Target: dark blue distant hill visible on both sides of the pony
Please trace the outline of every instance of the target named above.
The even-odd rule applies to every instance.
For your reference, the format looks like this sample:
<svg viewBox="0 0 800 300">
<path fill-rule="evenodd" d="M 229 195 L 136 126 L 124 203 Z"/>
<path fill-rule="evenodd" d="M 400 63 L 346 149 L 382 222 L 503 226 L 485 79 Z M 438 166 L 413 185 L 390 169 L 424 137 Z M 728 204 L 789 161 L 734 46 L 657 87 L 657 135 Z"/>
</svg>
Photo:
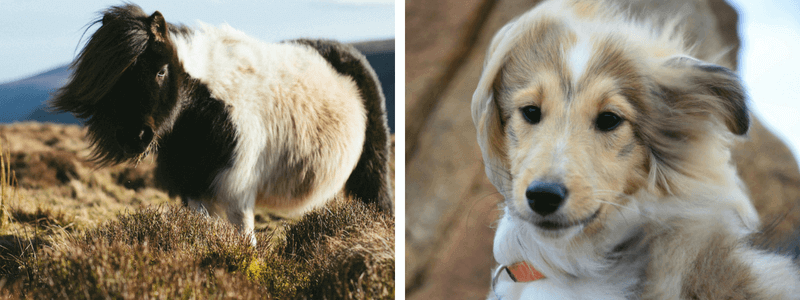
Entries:
<svg viewBox="0 0 800 300">
<path fill-rule="evenodd" d="M 375 69 L 386 95 L 389 127 L 394 133 L 394 39 L 354 43 Z M 80 124 L 70 114 L 49 111 L 45 101 L 67 83 L 72 71 L 67 65 L 25 79 L 0 84 L 0 123 L 20 121 Z"/>
</svg>

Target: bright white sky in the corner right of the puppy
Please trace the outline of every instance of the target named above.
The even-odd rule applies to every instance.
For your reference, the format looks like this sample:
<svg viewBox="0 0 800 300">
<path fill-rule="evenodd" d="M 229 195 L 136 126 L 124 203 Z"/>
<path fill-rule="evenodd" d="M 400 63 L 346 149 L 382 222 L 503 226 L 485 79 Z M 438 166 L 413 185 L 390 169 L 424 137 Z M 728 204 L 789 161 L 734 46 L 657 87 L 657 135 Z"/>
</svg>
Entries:
<svg viewBox="0 0 800 300">
<path fill-rule="evenodd" d="M 800 158 L 800 1 L 728 0 L 739 12 L 739 74 L 751 109 Z"/>
</svg>

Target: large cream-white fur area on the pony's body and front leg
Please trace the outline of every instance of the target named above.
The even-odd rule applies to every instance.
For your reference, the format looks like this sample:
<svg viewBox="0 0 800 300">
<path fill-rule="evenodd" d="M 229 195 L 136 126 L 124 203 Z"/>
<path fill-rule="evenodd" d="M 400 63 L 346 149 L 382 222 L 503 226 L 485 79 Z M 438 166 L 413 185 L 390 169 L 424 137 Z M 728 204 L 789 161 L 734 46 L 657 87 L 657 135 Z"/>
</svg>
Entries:
<svg viewBox="0 0 800 300">
<path fill-rule="evenodd" d="M 191 36 L 172 39 L 185 71 L 230 112 L 237 144 L 210 201 L 225 207 L 232 223 L 252 232 L 256 204 L 298 215 L 342 190 L 366 130 L 363 101 L 350 77 L 310 47 L 261 42 L 228 25 L 200 24 Z M 328 122 L 320 124 L 324 118 Z M 283 173 L 280 166 L 289 162 L 310 166 L 302 170 L 307 175 Z M 295 180 L 310 192 L 296 196 L 291 176 L 311 178 Z"/>
</svg>

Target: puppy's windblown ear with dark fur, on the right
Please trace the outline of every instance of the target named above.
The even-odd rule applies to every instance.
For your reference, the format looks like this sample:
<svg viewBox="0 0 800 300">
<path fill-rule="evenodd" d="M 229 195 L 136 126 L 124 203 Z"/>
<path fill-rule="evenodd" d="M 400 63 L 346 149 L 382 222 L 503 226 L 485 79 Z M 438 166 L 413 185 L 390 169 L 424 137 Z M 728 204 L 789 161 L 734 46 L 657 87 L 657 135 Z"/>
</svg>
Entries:
<svg viewBox="0 0 800 300">
<path fill-rule="evenodd" d="M 745 90 L 730 69 L 687 56 L 669 58 L 663 65 L 661 88 L 673 108 L 692 115 L 714 116 L 732 133 L 744 135 L 750 127 Z"/>
</svg>

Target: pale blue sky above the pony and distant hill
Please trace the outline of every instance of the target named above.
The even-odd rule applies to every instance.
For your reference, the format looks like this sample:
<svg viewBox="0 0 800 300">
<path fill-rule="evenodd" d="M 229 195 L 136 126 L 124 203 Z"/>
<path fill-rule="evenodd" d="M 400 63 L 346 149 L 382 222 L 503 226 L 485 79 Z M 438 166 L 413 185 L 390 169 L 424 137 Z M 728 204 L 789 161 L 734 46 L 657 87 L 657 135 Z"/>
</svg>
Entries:
<svg viewBox="0 0 800 300">
<path fill-rule="evenodd" d="M 394 38 L 394 0 L 155 1 L 134 0 L 167 22 L 197 21 L 233 28 L 277 42 L 300 37 L 343 42 Z M 72 61 L 97 26 L 86 25 L 120 0 L 0 0 L 0 84 Z"/>
</svg>

